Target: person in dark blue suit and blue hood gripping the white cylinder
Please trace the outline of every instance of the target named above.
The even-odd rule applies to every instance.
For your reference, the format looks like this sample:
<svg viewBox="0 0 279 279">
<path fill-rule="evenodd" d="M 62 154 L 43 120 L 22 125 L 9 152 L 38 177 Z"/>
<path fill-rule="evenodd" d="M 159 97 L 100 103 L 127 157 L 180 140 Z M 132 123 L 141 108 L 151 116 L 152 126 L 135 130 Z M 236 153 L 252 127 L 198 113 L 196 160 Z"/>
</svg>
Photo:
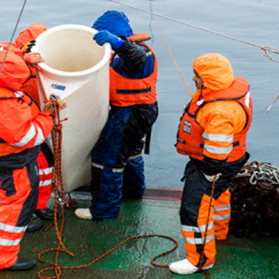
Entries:
<svg viewBox="0 0 279 279">
<path fill-rule="evenodd" d="M 110 43 L 110 114 L 91 153 L 91 206 L 75 215 L 93 222 L 119 216 L 122 196 L 144 195 L 144 159 L 151 127 L 158 117 L 156 54 L 145 43 L 151 36 L 134 33 L 128 17 L 109 10 L 93 23 L 98 45 Z"/>
</svg>

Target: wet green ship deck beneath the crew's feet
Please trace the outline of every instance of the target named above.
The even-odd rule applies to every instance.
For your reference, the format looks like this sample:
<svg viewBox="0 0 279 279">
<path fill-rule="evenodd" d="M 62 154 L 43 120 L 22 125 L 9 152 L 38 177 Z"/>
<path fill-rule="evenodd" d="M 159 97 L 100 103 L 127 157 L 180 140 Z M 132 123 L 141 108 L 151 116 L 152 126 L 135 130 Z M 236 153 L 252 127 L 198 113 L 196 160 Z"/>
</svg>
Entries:
<svg viewBox="0 0 279 279">
<path fill-rule="evenodd" d="M 169 264 L 183 259 L 184 241 L 180 232 L 179 197 L 181 189 L 148 188 L 144 199 L 123 200 L 119 218 L 111 223 L 93 223 L 75 217 L 75 209 L 65 210 L 63 243 L 75 255 L 59 253 L 59 266 L 79 266 L 89 264 L 131 236 L 143 234 L 163 234 L 172 236 L 179 242 L 173 252 L 156 259 L 158 264 Z M 87 193 L 76 192 L 73 198 L 80 206 L 89 206 Z M 54 198 L 50 201 L 52 206 Z M 51 221 L 44 220 L 44 227 Z M 60 223 L 59 223 L 60 224 Z M 56 248 L 57 238 L 54 227 L 45 232 L 26 233 L 22 240 L 20 256 L 36 258 L 43 250 Z M 226 241 L 217 242 L 216 265 L 203 273 L 181 276 L 165 267 L 153 266 L 151 259 L 171 249 L 174 243 L 161 237 L 132 239 L 123 243 L 109 255 L 84 269 L 62 270 L 61 279 L 276 279 L 279 278 L 279 237 L 257 238 L 229 235 Z M 47 252 L 42 258 L 54 261 L 55 252 Z M 0 271 L 1 279 L 38 278 L 38 272 L 50 264 L 37 261 L 30 271 Z M 52 277 L 54 271 L 41 274 Z"/>
</svg>

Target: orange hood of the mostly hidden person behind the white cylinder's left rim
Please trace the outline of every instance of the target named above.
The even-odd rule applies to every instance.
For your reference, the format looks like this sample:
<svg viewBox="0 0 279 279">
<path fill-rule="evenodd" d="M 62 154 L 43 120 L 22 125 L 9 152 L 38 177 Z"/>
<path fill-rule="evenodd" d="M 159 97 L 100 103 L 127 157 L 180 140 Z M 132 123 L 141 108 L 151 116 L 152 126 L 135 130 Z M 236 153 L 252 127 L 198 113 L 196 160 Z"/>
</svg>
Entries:
<svg viewBox="0 0 279 279">
<path fill-rule="evenodd" d="M 27 27 L 27 29 L 24 29 L 20 32 L 20 35 L 18 35 L 15 39 L 15 45 L 19 48 L 22 48 L 29 42 L 29 40 L 36 39 L 40 33 L 43 33 L 45 30 L 47 30 L 45 25 L 33 23 Z"/>
</svg>

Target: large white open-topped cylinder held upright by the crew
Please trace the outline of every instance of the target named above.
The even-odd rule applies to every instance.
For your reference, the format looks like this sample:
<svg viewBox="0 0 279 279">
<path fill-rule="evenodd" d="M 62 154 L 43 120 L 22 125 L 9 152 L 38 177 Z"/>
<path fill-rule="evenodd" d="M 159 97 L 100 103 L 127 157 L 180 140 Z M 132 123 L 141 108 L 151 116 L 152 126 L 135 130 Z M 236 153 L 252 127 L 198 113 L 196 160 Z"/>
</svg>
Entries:
<svg viewBox="0 0 279 279">
<path fill-rule="evenodd" d="M 90 181 L 90 153 L 109 111 L 110 44 L 92 39 L 97 31 L 77 24 L 53 27 L 36 39 L 32 52 L 45 63 L 37 70 L 40 105 L 51 94 L 67 103 L 63 122 L 62 175 L 66 191 Z"/>
</svg>

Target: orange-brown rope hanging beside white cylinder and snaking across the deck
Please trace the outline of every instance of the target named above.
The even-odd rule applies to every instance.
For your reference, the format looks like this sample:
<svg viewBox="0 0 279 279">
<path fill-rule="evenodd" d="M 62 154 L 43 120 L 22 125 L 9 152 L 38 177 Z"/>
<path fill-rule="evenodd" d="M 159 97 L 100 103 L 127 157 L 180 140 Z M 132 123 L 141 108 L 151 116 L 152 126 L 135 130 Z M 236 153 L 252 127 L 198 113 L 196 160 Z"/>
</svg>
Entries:
<svg viewBox="0 0 279 279">
<path fill-rule="evenodd" d="M 88 266 L 91 266 L 92 264 L 95 264 L 96 262 L 98 262 L 98 260 L 102 259 L 103 257 L 107 256 L 108 254 L 110 254 L 112 251 L 114 251 L 116 248 L 118 248 L 119 246 L 121 246 L 123 243 L 126 243 L 129 240 L 132 239 L 141 239 L 144 237 L 163 237 L 165 239 L 169 239 L 171 241 L 173 241 L 175 243 L 175 246 L 170 249 L 167 250 L 159 255 L 156 255 L 155 257 L 153 257 L 151 259 L 151 264 L 153 264 L 154 266 L 160 266 L 160 267 L 168 267 L 168 264 L 156 264 L 154 261 L 155 259 L 157 259 L 158 257 L 162 257 L 163 255 L 168 254 L 169 252 L 172 252 L 173 250 L 175 250 L 178 247 L 178 243 L 175 239 L 173 239 L 171 236 L 165 236 L 163 234 L 144 234 L 144 235 L 140 235 L 140 236 L 131 236 L 128 239 L 125 239 L 124 241 L 122 241 L 121 243 L 119 243 L 118 245 L 114 246 L 114 248 L 112 248 L 111 250 L 105 252 L 105 254 L 101 255 L 100 257 L 98 257 L 97 259 L 94 259 L 92 262 L 90 262 L 89 264 L 84 264 L 84 265 L 80 265 L 80 266 L 59 266 L 58 264 L 58 257 L 59 257 L 59 252 L 66 252 L 68 255 L 74 257 L 74 254 L 70 251 L 68 251 L 65 247 L 65 245 L 63 244 L 62 241 L 62 234 L 63 234 L 63 227 L 64 227 L 64 205 L 66 205 L 67 207 L 75 207 L 77 205 L 77 203 L 75 201 L 73 201 L 70 198 L 70 193 L 65 193 L 64 192 L 64 188 L 63 188 L 63 179 L 62 179 L 62 174 L 61 174 L 61 146 L 62 146 L 62 121 L 60 120 L 60 115 L 59 115 L 59 99 L 56 96 L 51 96 L 50 100 L 52 100 L 52 102 L 54 103 L 54 107 L 55 107 L 55 116 L 54 116 L 54 120 L 55 120 L 55 126 L 54 126 L 54 130 L 52 130 L 52 144 L 53 144 L 53 149 L 54 149 L 54 169 L 53 169 L 53 174 L 52 174 L 52 185 L 53 185 L 53 190 L 55 192 L 55 200 L 54 200 L 54 225 L 55 225 L 55 229 L 56 229 L 56 236 L 59 239 L 59 243 L 58 246 L 56 248 L 50 248 L 47 250 L 44 250 L 43 252 L 40 252 L 40 254 L 38 255 L 38 260 L 40 262 L 43 262 L 45 264 L 51 264 L 52 266 L 47 267 L 45 269 L 42 269 L 38 272 L 38 278 L 41 279 L 59 279 L 61 276 L 61 269 L 84 269 Z M 63 121 L 65 121 L 66 119 L 63 119 Z M 61 193 L 59 192 L 59 187 L 61 188 Z M 59 195 L 60 193 L 60 195 Z M 68 194 L 69 200 L 70 202 L 68 202 L 66 195 Z M 58 228 L 57 225 L 57 204 L 60 203 L 60 209 L 61 209 L 61 227 L 60 230 Z M 55 262 L 50 262 L 47 260 L 44 260 L 41 258 L 41 256 L 45 253 L 45 252 L 52 252 L 55 251 L 56 255 L 55 255 Z M 51 276 L 51 277 L 45 277 L 42 275 L 42 273 L 44 273 L 45 271 L 50 271 L 50 270 L 54 270 L 55 276 Z"/>
</svg>

